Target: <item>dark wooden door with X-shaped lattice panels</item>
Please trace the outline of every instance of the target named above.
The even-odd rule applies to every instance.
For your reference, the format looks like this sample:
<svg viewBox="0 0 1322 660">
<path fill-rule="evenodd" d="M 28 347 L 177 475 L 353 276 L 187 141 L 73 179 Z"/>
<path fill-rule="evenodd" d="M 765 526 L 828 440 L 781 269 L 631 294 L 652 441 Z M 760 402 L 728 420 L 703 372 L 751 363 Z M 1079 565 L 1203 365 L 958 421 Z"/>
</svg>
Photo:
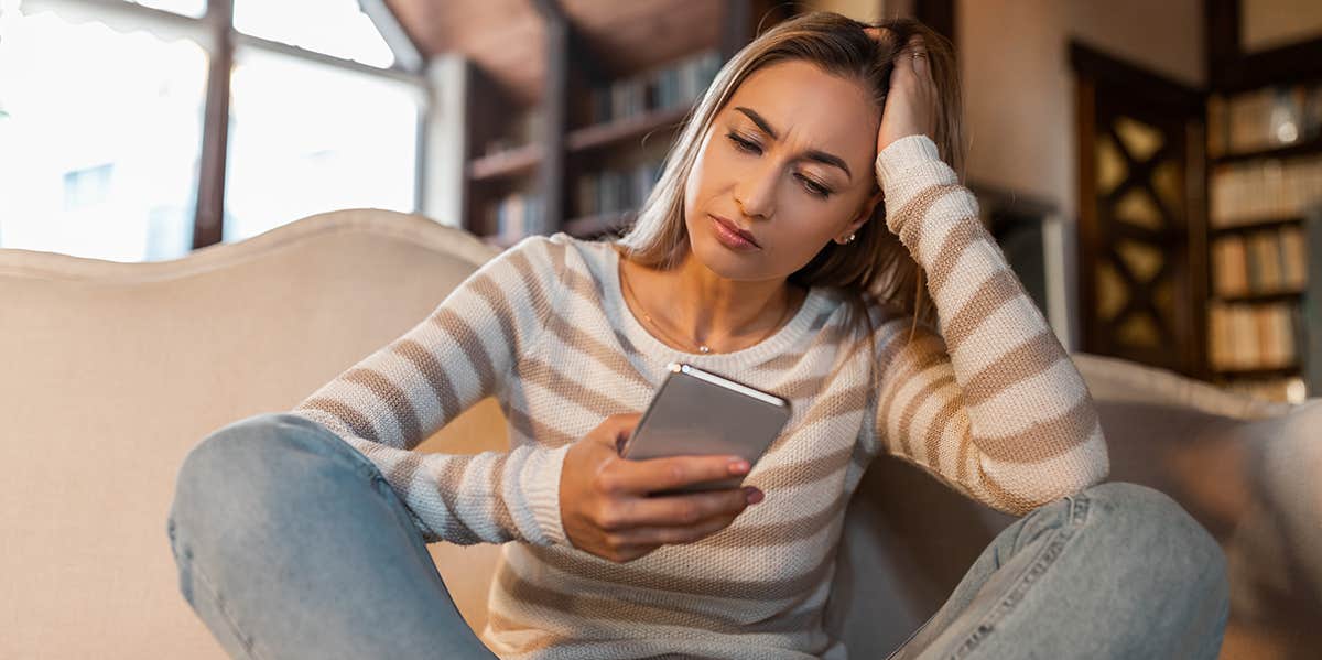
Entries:
<svg viewBox="0 0 1322 660">
<path fill-rule="evenodd" d="M 1203 99 L 1073 45 L 1083 349 L 1202 376 Z"/>
</svg>

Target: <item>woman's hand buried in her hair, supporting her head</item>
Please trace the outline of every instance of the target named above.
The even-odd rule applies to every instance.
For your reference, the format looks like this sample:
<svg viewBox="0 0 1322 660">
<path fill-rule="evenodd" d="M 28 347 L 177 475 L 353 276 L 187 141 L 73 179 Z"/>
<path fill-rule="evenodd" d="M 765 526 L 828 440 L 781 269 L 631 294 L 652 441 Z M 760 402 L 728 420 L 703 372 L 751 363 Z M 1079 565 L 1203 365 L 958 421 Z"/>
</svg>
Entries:
<svg viewBox="0 0 1322 660">
<path fill-rule="evenodd" d="M 880 29 L 866 30 L 873 38 L 880 38 Z M 919 53 L 919 57 L 914 57 Z M 939 97 L 932 71 L 927 61 L 927 46 L 920 34 L 910 38 L 908 45 L 895 56 L 895 69 L 891 73 L 891 89 L 882 110 L 882 126 L 876 132 L 876 152 L 892 142 L 908 135 L 933 138 Z"/>
</svg>

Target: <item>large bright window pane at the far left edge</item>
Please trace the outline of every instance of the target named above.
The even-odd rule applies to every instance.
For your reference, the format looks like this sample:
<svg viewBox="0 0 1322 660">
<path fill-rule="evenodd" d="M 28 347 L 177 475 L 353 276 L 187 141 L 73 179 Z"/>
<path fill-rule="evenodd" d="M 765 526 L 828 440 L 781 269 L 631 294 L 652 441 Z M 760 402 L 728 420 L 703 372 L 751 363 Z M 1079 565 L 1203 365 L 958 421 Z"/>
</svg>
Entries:
<svg viewBox="0 0 1322 660">
<path fill-rule="evenodd" d="M 186 254 L 206 67 L 189 40 L 53 11 L 0 16 L 0 246 Z"/>
</svg>

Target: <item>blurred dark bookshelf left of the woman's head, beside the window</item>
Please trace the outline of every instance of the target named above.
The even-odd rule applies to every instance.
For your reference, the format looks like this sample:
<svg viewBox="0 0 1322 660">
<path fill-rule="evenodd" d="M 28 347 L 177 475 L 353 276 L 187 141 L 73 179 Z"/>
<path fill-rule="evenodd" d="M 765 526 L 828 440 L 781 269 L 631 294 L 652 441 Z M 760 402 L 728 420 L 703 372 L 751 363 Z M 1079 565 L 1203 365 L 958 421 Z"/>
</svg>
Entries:
<svg viewBox="0 0 1322 660">
<path fill-rule="evenodd" d="M 656 4 L 669 15 L 698 11 L 677 3 Z M 501 247 L 531 234 L 598 238 L 627 229 L 720 65 L 759 21 L 765 30 L 796 12 L 775 0 L 705 7 L 718 25 L 705 20 L 703 29 L 627 42 L 600 38 L 599 26 L 596 37 L 588 33 L 588 24 L 617 9 L 575 5 L 568 15 L 557 3 L 538 3 L 547 38 L 535 94 L 469 66 L 464 229 Z"/>
</svg>

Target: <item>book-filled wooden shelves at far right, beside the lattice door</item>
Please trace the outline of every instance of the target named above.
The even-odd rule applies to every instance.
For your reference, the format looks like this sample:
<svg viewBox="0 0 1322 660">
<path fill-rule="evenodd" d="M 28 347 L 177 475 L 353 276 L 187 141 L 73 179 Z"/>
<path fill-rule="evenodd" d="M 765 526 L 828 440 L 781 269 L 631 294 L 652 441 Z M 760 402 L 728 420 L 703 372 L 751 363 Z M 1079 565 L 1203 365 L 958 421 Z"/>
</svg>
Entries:
<svg viewBox="0 0 1322 660">
<path fill-rule="evenodd" d="M 1322 253 L 1322 79 L 1212 91 L 1207 155 L 1208 376 L 1273 401 L 1322 394 L 1309 259 Z"/>
</svg>

